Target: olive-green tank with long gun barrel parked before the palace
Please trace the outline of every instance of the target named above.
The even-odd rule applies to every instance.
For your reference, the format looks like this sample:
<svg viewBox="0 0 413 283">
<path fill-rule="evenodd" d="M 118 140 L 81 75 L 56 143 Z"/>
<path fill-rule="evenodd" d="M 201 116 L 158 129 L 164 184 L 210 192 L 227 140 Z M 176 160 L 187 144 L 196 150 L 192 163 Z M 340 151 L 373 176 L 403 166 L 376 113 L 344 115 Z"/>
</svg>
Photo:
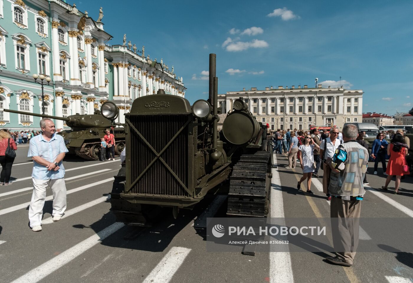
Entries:
<svg viewBox="0 0 413 283">
<path fill-rule="evenodd" d="M 88 160 L 99 159 L 100 138 L 104 136 L 106 129 L 112 127 L 111 120 L 104 118 L 99 111 L 92 115 L 76 114 L 66 118 L 8 109 L 4 111 L 65 121 L 71 129 L 63 130 L 57 134 L 64 138 L 69 153 Z M 113 134 L 116 141 L 115 154 L 120 155 L 125 146 L 125 129 L 114 128 Z"/>
</svg>

